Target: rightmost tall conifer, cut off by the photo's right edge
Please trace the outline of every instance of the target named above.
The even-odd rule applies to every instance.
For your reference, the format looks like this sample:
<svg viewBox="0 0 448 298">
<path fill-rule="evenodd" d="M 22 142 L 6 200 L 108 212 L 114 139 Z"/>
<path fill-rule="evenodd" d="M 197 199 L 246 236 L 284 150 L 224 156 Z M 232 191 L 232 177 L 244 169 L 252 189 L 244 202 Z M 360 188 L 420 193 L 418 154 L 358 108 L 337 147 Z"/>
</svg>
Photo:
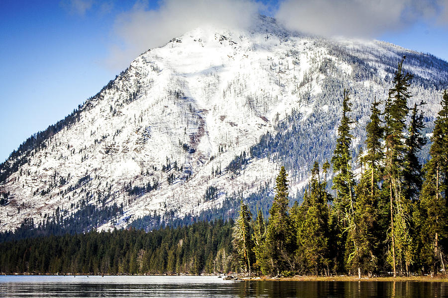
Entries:
<svg viewBox="0 0 448 298">
<path fill-rule="evenodd" d="M 442 109 L 435 121 L 431 159 L 424 167 L 425 182 L 420 197 L 420 220 L 422 222 L 422 256 L 431 267 L 431 274 L 437 273 L 438 261 L 447 274 L 440 246 L 441 235 L 447 235 L 448 226 L 448 92 L 445 90 Z"/>
</svg>

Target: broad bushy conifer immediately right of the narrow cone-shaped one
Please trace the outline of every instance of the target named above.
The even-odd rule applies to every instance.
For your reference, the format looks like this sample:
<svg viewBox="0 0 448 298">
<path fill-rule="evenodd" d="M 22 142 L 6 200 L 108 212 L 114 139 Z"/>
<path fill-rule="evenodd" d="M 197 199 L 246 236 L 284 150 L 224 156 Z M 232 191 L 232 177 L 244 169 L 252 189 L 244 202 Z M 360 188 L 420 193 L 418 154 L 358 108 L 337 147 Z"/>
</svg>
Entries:
<svg viewBox="0 0 448 298">
<path fill-rule="evenodd" d="M 328 169 L 328 167 L 326 167 Z M 311 180 L 305 192 L 303 204 L 294 211 L 297 229 L 296 258 L 306 272 L 318 275 L 330 271 L 330 210 L 331 197 L 325 190 L 326 181 L 321 181 L 319 163 L 314 163 Z"/>
</svg>

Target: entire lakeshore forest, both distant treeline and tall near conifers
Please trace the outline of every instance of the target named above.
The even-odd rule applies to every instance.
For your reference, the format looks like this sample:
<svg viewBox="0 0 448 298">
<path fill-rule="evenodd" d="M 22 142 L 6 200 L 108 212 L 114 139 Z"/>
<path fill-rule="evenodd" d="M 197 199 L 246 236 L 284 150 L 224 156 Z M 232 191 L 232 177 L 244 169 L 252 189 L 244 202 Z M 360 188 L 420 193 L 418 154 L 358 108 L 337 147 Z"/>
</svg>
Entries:
<svg viewBox="0 0 448 298">
<path fill-rule="evenodd" d="M 235 222 L 9 240 L 0 243 L 0 271 L 446 275 L 448 92 L 428 140 L 420 110 L 425 102 L 408 107 L 412 74 L 402 72 L 403 62 L 388 97 L 371 106 L 356 162 L 350 94 L 344 90 L 336 149 L 331 160 L 314 163 L 301 204 L 289 202 L 282 167 L 268 219 L 261 208 L 254 218 L 241 200 Z M 431 157 L 422 165 L 418 153 L 429 141 Z M 2 240 L 12 238 L 2 233 Z"/>
</svg>

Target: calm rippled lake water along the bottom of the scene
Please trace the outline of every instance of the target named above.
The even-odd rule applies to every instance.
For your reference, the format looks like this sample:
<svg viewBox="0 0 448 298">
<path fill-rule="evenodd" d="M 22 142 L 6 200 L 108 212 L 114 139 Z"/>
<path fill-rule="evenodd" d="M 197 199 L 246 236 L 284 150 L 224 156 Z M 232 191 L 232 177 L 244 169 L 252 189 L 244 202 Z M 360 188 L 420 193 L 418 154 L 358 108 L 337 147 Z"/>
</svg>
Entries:
<svg viewBox="0 0 448 298">
<path fill-rule="evenodd" d="M 1 276 L 0 297 L 448 297 L 448 283 L 223 281 L 216 276 Z"/>
</svg>

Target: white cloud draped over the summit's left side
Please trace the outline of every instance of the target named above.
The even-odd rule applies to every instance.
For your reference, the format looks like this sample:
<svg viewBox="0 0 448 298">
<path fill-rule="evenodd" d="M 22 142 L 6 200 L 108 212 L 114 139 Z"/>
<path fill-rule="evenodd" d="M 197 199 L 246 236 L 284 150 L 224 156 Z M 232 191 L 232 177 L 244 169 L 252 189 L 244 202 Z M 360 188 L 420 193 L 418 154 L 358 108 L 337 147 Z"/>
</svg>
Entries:
<svg viewBox="0 0 448 298">
<path fill-rule="evenodd" d="M 115 20 L 117 39 L 108 65 L 120 69 L 147 49 L 162 46 L 173 37 L 204 24 L 245 28 L 261 4 L 252 0 L 162 0 L 156 10 L 137 2 Z"/>
</svg>

